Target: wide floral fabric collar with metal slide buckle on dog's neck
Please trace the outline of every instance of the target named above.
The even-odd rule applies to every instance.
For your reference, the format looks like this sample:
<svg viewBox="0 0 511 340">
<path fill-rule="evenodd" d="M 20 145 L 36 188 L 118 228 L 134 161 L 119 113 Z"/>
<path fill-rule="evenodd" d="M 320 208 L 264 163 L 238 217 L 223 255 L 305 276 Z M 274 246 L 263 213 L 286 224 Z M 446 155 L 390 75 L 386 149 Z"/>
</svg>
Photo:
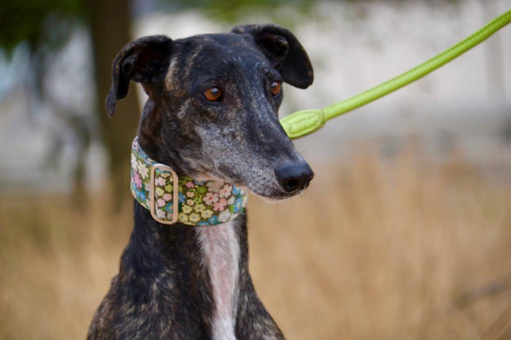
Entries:
<svg viewBox="0 0 511 340">
<path fill-rule="evenodd" d="M 131 145 L 131 193 L 153 218 L 164 224 L 191 226 L 224 223 L 245 211 L 247 190 L 223 181 L 177 177 L 169 166 L 147 156 L 138 143 Z M 178 214 L 174 204 L 178 202 Z"/>
</svg>

